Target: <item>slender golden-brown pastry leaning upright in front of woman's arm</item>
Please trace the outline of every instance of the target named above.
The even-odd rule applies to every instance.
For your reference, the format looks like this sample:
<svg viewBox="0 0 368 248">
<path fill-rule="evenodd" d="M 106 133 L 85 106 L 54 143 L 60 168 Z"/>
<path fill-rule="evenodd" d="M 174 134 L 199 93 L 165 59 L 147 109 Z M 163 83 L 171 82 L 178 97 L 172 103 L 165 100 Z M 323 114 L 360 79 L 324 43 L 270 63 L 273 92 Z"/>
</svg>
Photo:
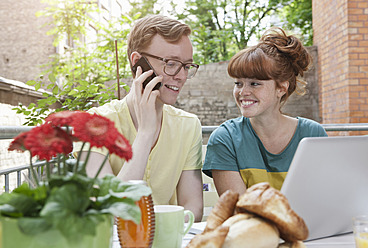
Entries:
<svg viewBox="0 0 368 248">
<path fill-rule="evenodd" d="M 207 225 L 204 232 L 215 230 L 225 220 L 234 214 L 235 205 L 239 194 L 231 190 L 226 190 L 217 200 L 211 213 L 207 217 Z"/>
</svg>

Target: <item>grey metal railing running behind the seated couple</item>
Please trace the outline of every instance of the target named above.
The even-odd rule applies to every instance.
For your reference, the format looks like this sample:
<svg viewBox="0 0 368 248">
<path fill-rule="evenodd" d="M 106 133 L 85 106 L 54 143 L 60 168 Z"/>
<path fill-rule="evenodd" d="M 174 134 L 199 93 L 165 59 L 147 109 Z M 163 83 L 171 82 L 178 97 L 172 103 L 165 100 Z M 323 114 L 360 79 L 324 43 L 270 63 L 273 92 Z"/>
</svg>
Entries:
<svg viewBox="0 0 368 248">
<path fill-rule="evenodd" d="M 368 131 L 368 123 L 348 123 L 348 124 L 322 124 L 326 132 L 334 131 Z M 202 134 L 211 134 L 218 126 L 202 126 Z M 31 130 L 32 127 L 26 126 L 3 126 L 0 127 L 0 140 L 13 139 L 15 136 L 22 132 Z M 37 167 L 37 173 L 40 175 L 42 166 L 45 162 L 36 162 L 34 166 Z M 0 176 L 5 178 L 5 192 L 9 192 L 9 175 L 16 173 L 17 186 L 21 184 L 23 171 L 28 171 L 28 177 L 30 177 L 29 165 L 16 166 L 8 169 L 0 170 Z"/>
</svg>

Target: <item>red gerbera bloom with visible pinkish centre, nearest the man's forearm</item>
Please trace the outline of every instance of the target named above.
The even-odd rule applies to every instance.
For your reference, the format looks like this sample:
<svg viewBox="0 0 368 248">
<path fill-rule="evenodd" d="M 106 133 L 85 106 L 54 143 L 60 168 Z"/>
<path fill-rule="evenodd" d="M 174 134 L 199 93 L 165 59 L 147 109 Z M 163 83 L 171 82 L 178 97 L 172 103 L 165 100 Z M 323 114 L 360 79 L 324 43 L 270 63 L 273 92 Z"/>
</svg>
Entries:
<svg viewBox="0 0 368 248">
<path fill-rule="evenodd" d="M 97 114 L 80 115 L 73 124 L 74 136 L 95 147 L 113 144 L 118 134 L 114 122 Z"/>
</svg>

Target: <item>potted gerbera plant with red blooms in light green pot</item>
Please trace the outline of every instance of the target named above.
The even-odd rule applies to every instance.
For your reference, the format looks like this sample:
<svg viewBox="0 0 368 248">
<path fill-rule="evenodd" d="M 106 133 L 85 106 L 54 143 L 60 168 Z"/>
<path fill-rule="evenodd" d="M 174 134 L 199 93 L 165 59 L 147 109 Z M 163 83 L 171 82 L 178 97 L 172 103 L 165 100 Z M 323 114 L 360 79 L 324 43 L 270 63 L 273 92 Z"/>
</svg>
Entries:
<svg viewBox="0 0 368 248">
<path fill-rule="evenodd" d="M 130 144 L 114 123 L 87 112 L 57 112 L 18 135 L 9 150 L 30 151 L 32 176 L 0 195 L 0 247 L 111 247 L 113 216 L 140 221 L 135 202 L 151 189 L 112 175 L 99 178 L 99 172 L 88 177 L 89 153 L 85 161 L 70 158 L 76 141 L 83 142 L 81 149 L 106 147 L 126 160 L 132 157 Z M 42 176 L 32 164 L 35 156 L 46 161 Z"/>
</svg>

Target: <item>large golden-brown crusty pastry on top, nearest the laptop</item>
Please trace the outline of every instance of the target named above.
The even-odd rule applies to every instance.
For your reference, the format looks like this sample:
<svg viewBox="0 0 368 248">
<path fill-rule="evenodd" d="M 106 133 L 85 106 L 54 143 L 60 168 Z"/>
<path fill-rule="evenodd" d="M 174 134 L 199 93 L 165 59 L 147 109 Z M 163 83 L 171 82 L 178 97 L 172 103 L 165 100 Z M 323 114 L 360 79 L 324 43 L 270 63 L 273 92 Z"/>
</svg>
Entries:
<svg viewBox="0 0 368 248">
<path fill-rule="evenodd" d="M 248 188 L 239 197 L 236 208 L 238 212 L 249 211 L 273 222 L 285 241 L 305 240 L 308 237 L 304 220 L 290 208 L 286 197 L 267 182 Z"/>
</svg>

